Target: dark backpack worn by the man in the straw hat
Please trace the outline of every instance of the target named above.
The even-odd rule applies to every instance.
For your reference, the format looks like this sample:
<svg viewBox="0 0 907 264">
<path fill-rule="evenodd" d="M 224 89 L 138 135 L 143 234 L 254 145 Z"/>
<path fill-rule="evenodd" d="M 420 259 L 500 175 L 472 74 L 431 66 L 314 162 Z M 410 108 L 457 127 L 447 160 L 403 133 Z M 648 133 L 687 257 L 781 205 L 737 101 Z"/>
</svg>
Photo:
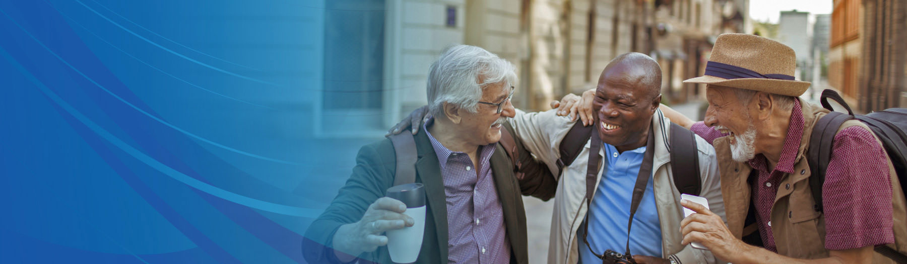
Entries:
<svg viewBox="0 0 907 264">
<path fill-rule="evenodd" d="M 834 108 L 828 104 L 828 99 L 833 99 L 847 109 L 847 114 L 835 112 Z M 888 153 L 888 159 L 891 160 L 894 171 L 897 173 L 897 177 L 892 178 L 892 181 L 899 183 L 907 181 L 907 133 L 905 133 L 907 132 L 907 108 L 888 108 L 866 115 L 854 115 L 850 106 L 834 90 L 823 90 L 820 102 L 823 108 L 831 112 L 815 122 L 806 156 L 809 169 L 813 172 L 809 177 L 809 185 L 818 211 L 823 211 L 822 185 L 825 182 L 825 170 L 831 159 L 832 141 L 844 121 L 856 119 L 869 127 L 873 134 L 882 141 L 882 146 Z M 892 183 L 892 185 L 897 184 Z M 895 195 L 896 192 L 905 193 L 904 185 L 901 184 L 900 190 L 892 188 L 892 198 L 898 197 Z M 894 244 L 898 245 L 895 249 L 889 246 L 876 246 L 875 251 L 898 263 L 907 263 L 907 237 L 898 237 L 895 234 L 894 240 Z"/>
</svg>

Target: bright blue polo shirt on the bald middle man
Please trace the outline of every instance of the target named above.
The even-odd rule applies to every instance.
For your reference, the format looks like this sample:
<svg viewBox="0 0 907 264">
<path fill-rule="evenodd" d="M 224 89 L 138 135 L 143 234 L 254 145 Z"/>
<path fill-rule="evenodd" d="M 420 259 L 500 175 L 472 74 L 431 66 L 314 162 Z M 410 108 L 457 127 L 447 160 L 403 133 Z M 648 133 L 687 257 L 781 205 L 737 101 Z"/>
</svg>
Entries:
<svg viewBox="0 0 907 264">
<path fill-rule="evenodd" d="M 603 144 L 602 176 L 599 188 L 592 198 L 589 214 L 589 245 L 595 253 L 614 250 L 623 254 L 627 243 L 627 222 L 633 186 L 636 185 L 639 165 L 646 153 L 646 146 L 619 153 L 617 148 Z M 655 205 L 654 182 L 649 175 L 646 192 L 642 195 L 639 208 L 633 215 L 633 230 L 629 236 L 629 250 L 634 255 L 661 258 L 661 224 Z M 582 240 L 584 231 L 577 231 L 580 263 L 601 263 L 601 259 L 590 252 Z"/>
</svg>

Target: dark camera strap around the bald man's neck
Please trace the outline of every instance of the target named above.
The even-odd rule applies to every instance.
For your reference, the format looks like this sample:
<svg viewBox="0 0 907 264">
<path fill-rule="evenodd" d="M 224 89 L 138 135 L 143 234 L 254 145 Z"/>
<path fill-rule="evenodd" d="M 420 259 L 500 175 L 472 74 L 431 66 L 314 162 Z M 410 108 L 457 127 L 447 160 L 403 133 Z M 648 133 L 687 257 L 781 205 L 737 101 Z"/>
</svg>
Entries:
<svg viewBox="0 0 907 264">
<path fill-rule="evenodd" d="M 592 247 L 589 245 L 589 213 L 591 212 L 592 204 L 592 194 L 595 193 L 595 184 L 596 176 L 599 174 L 599 163 L 601 156 L 599 156 L 599 151 L 601 149 L 601 138 L 599 137 L 598 131 L 592 131 L 590 138 L 590 150 L 589 150 L 589 164 L 586 166 L 586 219 L 582 222 L 584 233 L 582 236 L 582 241 L 586 243 L 586 247 L 600 259 L 605 259 L 605 255 L 598 254 L 595 250 L 592 250 Z M 630 200 L 629 205 L 629 220 L 627 222 L 627 252 L 624 253 L 623 257 L 629 259 L 630 261 L 636 262 L 633 259 L 633 255 L 629 251 L 629 231 L 633 225 L 633 215 L 636 214 L 636 210 L 639 208 L 639 201 L 642 200 L 642 193 L 646 191 L 646 184 L 649 184 L 649 176 L 652 174 L 652 159 L 655 156 L 655 132 L 652 127 L 649 127 L 649 138 L 646 140 L 646 154 L 642 158 L 642 164 L 639 165 L 639 174 L 636 176 L 636 184 L 633 186 L 633 196 Z"/>
</svg>

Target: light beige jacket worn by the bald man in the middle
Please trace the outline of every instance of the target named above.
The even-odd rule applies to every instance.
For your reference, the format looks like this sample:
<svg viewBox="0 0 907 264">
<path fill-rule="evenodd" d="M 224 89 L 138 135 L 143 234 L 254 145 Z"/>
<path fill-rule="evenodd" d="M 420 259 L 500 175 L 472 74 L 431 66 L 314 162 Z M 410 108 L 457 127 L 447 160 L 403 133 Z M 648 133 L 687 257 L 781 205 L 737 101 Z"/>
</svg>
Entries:
<svg viewBox="0 0 907 264">
<path fill-rule="evenodd" d="M 555 115 L 554 110 L 537 113 L 524 113 L 517 110 L 511 122 L 516 137 L 519 137 L 526 148 L 540 161 L 548 165 L 552 172 L 557 172 L 556 162 L 560 156 L 558 150 L 563 138 L 573 122 L 569 118 Z M 680 221 L 683 220 L 683 209 L 680 206 L 680 193 L 671 178 L 670 154 L 667 150 L 668 129 L 670 121 L 658 110 L 652 120 L 655 127 L 655 154 L 652 172 L 654 174 L 655 201 L 658 204 L 658 219 L 661 222 L 661 258 L 668 259 L 676 255 L 681 263 L 715 263 L 712 254 L 707 250 L 697 250 L 680 244 Z M 594 133 L 594 132 L 593 132 Z M 724 219 L 725 207 L 722 203 L 721 185 L 717 174 L 718 167 L 715 149 L 701 137 L 697 138 L 699 152 L 699 170 L 702 179 L 702 193 L 708 199 L 708 206 Z M 551 216 L 551 244 L 548 250 L 549 263 L 577 263 L 579 261 L 580 240 L 576 231 L 586 216 L 586 166 L 588 164 L 590 143 L 580 152 L 573 164 L 564 168 L 563 176 L 558 179 L 557 194 L 554 198 L 554 212 Z M 600 153 L 603 155 L 603 153 Z M 600 169 L 596 187 L 601 179 Z M 633 186 L 627 186 L 633 188 Z M 595 199 L 593 197 L 592 199 Z M 614 238 L 626 240 L 627 238 Z M 619 249 L 618 249 L 619 250 Z"/>
</svg>

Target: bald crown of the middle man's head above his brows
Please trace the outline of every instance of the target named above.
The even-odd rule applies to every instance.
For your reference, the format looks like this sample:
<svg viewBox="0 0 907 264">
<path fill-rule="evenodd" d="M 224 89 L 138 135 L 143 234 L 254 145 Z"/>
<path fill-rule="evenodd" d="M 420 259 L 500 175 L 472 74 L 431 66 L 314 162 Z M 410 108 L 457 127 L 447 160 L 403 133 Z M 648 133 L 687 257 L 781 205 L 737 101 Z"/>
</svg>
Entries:
<svg viewBox="0 0 907 264">
<path fill-rule="evenodd" d="M 655 98 L 661 91 L 661 67 L 646 54 L 620 54 L 605 66 L 599 77 L 599 89 L 615 86 L 633 87 Z"/>
</svg>

